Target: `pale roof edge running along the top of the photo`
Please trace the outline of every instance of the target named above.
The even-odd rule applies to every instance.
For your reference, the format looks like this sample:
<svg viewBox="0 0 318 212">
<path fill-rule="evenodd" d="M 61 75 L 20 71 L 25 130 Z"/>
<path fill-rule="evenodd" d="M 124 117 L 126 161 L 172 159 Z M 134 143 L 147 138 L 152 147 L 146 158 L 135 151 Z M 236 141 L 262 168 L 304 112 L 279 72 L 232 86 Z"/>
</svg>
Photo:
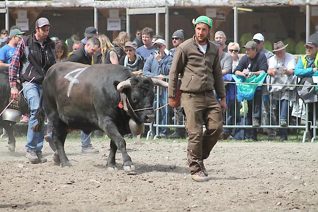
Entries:
<svg viewBox="0 0 318 212">
<path fill-rule="evenodd" d="M 5 7 L 96 7 L 96 8 L 147 8 L 147 7 L 213 7 L 213 6 L 279 6 L 318 5 L 318 0 L 7 0 Z"/>
</svg>

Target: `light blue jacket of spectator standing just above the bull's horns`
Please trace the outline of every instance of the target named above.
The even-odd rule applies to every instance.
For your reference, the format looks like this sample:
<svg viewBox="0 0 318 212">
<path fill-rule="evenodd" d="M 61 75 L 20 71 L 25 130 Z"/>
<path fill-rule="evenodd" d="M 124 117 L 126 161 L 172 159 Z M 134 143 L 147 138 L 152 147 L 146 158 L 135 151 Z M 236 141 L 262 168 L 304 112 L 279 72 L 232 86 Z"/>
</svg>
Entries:
<svg viewBox="0 0 318 212">
<path fill-rule="evenodd" d="M 169 75 L 172 64 L 172 57 L 164 55 L 160 62 L 157 61 L 154 55 L 150 56 L 143 66 L 143 75 L 158 76 Z"/>
</svg>

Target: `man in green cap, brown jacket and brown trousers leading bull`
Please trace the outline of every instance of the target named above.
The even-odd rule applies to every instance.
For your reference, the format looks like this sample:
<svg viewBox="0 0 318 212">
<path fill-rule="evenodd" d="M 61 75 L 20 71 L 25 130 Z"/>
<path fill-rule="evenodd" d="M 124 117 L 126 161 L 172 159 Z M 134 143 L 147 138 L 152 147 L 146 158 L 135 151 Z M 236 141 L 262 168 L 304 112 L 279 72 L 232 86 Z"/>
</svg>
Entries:
<svg viewBox="0 0 318 212">
<path fill-rule="evenodd" d="M 223 124 L 222 110 L 224 112 L 227 105 L 218 47 L 208 40 L 212 19 L 200 16 L 193 20 L 193 24 L 195 35 L 181 43 L 173 57 L 168 97 L 170 106 L 178 106 L 176 94 L 180 74 L 181 106 L 188 132 L 187 162 L 192 179 L 203 182 L 208 180 L 203 160 L 219 139 Z M 213 96 L 214 89 L 221 98 L 220 103 Z M 204 133 L 203 122 L 206 127 Z"/>
</svg>

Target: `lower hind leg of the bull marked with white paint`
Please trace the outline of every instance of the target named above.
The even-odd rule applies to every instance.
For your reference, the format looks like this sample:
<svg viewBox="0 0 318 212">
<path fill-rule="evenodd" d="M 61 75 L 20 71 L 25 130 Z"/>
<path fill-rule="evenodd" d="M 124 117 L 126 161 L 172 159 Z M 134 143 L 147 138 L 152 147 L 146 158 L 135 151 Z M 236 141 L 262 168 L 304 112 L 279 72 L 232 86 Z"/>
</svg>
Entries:
<svg viewBox="0 0 318 212">
<path fill-rule="evenodd" d="M 53 156 L 53 160 L 56 165 L 59 165 L 58 162 L 60 160 L 61 162 L 61 167 L 70 167 L 71 164 L 69 163 L 68 157 L 65 154 L 64 151 L 64 144 L 65 144 L 65 139 L 66 136 L 68 135 L 68 132 L 65 127 L 63 127 L 63 124 L 59 123 L 57 126 L 53 126 L 54 129 L 54 144 L 56 147 L 56 151 Z"/>
</svg>

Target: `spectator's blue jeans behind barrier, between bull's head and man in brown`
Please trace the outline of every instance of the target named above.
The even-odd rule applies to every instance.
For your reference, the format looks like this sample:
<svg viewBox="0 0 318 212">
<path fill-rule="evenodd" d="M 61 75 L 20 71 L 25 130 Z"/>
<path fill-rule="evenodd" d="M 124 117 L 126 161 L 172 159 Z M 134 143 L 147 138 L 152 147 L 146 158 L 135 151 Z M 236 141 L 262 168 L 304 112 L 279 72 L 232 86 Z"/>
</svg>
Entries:
<svg viewBox="0 0 318 212">
<path fill-rule="evenodd" d="M 159 107 L 160 106 L 164 106 L 165 104 L 167 104 L 167 91 L 165 88 L 159 88 L 161 89 L 161 92 L 159 92 Z M 157 108 L 157 98 L 155 97 L 154 100 L 154 109 Z M 167 121 L 169 119 L 169 105 L 165 106 L 161 109 L 159 109 L 159 124 L 160 125 L 167 125 Z M 156 113 L 156 112 L 155 112 Z M 157 113 L 156 113 L 157 115 Z M 167 135 L 168 133 L 168 128 L 166 127 L 160 127 L 159 128 L 159 134 L 165 134 Z"/>
</svg>

